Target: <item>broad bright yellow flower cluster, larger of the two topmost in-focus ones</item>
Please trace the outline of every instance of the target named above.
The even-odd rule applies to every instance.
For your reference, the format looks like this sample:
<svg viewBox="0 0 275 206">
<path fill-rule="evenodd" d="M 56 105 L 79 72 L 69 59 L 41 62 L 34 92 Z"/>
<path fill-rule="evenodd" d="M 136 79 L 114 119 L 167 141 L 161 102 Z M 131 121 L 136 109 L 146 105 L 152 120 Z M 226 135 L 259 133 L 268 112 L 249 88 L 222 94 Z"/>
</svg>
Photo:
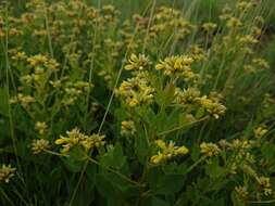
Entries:
<svg viewBox="0 0 275 206">
<path fill-rule="evenodd" d="M 165 76 L 183 76 L 192 79 L 195 74 L 191 70 L 193 59 L 187 55 L 165 57 L 155 65 L 155 69 L 162 70 Z"/>
</svg>

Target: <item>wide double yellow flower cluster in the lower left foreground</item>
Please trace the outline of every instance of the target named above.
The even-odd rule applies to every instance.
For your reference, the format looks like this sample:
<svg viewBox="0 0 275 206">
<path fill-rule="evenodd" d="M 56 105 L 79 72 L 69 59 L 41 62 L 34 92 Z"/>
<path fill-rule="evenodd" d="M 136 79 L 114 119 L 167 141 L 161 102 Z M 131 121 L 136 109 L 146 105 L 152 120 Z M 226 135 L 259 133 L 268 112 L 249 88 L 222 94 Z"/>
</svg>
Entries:
<svg viewBox="0 0 275 206">
<path fill-rule="evenodd" d="M 82 146 L 86 152 L 104 145 L 104 136 L 91 134 L 86 136 L 75 128 L 66 132 L 67 137 L 60 136 L 60 139 L 55 140 L 55 144 L 63 146 L 62 153 L 67 153 L 74 146 Z"/>
</svg>

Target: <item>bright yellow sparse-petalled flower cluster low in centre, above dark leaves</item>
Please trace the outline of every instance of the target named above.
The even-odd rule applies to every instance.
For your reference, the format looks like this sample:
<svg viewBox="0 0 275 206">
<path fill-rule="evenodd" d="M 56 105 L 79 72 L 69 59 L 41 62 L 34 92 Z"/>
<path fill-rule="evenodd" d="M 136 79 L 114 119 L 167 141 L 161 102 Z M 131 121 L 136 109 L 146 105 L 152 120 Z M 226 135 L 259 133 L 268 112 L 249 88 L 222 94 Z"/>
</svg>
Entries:
<svg viewBox="0 0 275 206">
<path fill-rule="evenodd" d="M 157 155 L 153 155 L 151 157 L 150 162 L 152 164 L 160 164 L 175 156 L 185 155 L 189 152 L 189 150 L 186 146 L 184 145 L 175 146 L 175 143 L 172 141 L 168 144 L 166 144 L 163 140 L 157 140 L 155 144 L 160 151 L 158 152 Z"/>
</svg>

